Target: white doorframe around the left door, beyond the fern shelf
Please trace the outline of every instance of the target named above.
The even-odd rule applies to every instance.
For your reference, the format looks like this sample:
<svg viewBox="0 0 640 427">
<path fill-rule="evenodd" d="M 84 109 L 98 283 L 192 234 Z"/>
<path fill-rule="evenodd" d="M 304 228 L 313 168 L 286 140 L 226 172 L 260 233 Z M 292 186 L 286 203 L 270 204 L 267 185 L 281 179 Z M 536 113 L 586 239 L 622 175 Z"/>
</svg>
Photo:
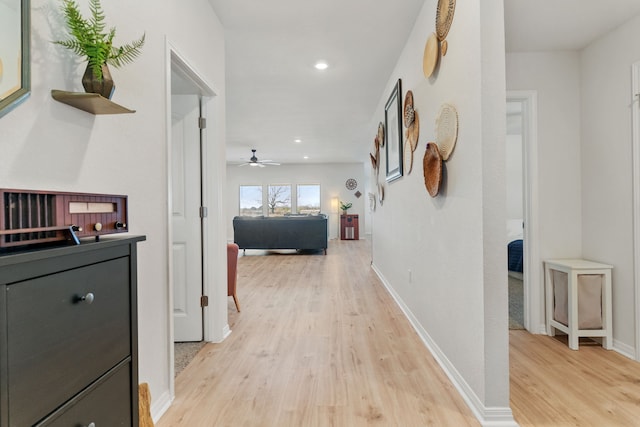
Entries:
<svg viewBox="0 0 640 427">
<path fill-rule="evenodd" d="M 168 313 L 168 336 L 167 336 L 167 354 L 168 365 L 167 372 L 169 373 L 169 393 L 170 399 L 173 400 L 175 397 L 175 354 L 174 354 L 174 321 L 173 321 L 173 255 L 172 255 L 172 242 L 173 242 L 173 225 L 171 224 L 171 216 L 173 215 L 173 206 L 171 204 L 172 193 L 171 193 L 171 182 L 172 182 L 172 140 L 171 140 L 171 74 L 174 71 L 179 71 L 182 75 L 190 80 L 194 86 L 196 86 L 200 91 L 200 115 L 204 117 L 205 120 L 207 118 L 207 104 L 208 101 L 212 100 L 216 92 L 214 89 L 206 83 L 206 81 L 200 76 L 200 74 L 190 65 L 190 63 L 179 53 L 178 49 L 173 46 L 168 38 L 165 38 L 165 95 L 166 95 L 166 168 L 167 168 L 167 241 L 166 241 L 166 250 L 167 250 L 167 313 Z M 202 177 L 206 177 L 209 171 L 209 162 L 207 161 L 207 144 L 205 143 L 207 140 L 206 129 L 201 129 L 200 131 L 200 147 L 201 147 L 201 175 Z M 202 192 L 202 206 L 208 206 L 208 187 L 207 180 L 203 179 L 201 182 L 201 192 Z M 208 220 L 207 217 L 202 218 L 201 220 L 201 236 L 202 236 L 202 291 L 205 295 L 215 295 L 215 284 L 212 282 L 210 277 L 210 271 L 208 268 L 208 263 L 206 260 L 209 259 L 209 236 L 208 231 Z M 213 313 L 210 313 L 209 309 L 212 310 Z M 210 317 L 215 317 L 216 305 L 212 305 L 209 307 L 203 308 L 203 334 L 205 341 L 210 337 L 209 326 Z"/>
</svg>

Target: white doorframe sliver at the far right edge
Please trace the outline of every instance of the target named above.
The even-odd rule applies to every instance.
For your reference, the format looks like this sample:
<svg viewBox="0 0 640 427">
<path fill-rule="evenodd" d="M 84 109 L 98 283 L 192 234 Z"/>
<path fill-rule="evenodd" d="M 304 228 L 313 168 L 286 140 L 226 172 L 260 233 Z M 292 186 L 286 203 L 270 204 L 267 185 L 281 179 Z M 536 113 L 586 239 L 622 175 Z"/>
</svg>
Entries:
<svg viewBox="0 0 640 427">
<path fill-rule="evenodd" d="M 633 162 L 633 281 L 635 293 L 635 359 L 640 361 L 640 61 L 631 65 Z"/>
</svg>

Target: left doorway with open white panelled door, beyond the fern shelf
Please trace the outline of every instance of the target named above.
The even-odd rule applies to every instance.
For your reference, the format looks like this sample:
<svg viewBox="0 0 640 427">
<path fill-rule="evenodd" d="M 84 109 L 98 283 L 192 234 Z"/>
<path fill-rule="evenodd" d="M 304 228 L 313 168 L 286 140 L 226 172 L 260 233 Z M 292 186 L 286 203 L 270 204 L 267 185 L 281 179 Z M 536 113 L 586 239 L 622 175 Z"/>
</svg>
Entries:
<svg viewBox="0 0 640 427">
<path fill-rule="evenodd" d="M 211 198 L 204 177 L 210 170 L 207 105 L 213 102 L 215 93 L 168 43 L 167 59 L 170 105 L 167 112 L 167 213 L 170 219 L 167 241 L 170 336 L 167 344 L 173 396 L 176 362 L 181 356 L 174 351 L 174 342 L 203 343 L 211 338 L 207 326 L 210 326 L 210 319 L 207 322 L 209 312 L 203 298 L 212 290 L 211 269 L 207 267 L 212 264 L 212 255 L 208 250 L 211 236 L 207 234 L 206 208 L 207 199 Z"/>
</svg>

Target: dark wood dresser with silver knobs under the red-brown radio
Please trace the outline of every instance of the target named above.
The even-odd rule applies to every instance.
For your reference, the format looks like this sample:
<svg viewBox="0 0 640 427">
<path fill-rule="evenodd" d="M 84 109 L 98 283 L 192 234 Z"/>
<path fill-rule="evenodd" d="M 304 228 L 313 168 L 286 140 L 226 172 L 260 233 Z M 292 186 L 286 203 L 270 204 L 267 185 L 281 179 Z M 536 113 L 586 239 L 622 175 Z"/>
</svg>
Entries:
<svg viewBox="0 0 640 427">
<path fill-rule="evenodd" d="M 143 240 L 0 253 L 0 427 L 138 425 Z"/>
</svg>

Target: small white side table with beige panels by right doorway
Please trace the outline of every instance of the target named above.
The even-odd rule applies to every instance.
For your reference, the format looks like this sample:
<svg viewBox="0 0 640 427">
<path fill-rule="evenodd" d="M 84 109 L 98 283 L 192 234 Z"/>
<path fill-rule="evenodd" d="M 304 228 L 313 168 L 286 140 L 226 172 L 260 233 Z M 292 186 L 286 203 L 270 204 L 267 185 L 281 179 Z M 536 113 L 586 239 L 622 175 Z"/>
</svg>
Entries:
<svg viewBox="0 0 640 427">
<path fill-rule="evenodd" d="M 550 259 L 544 262 L 549 336 L 555 335 L 555 329 L 565 332 L 572 350 L 578 350 L 579 337 L 602 337 L 602 347 L 611 349 L 612 268 L 609 264 L 583 259 Z M 564 275 L 556 272 L 566 274 L 566 288 Z M 583 323 L 589 324 L 585 326 Z"/>
</svg>

